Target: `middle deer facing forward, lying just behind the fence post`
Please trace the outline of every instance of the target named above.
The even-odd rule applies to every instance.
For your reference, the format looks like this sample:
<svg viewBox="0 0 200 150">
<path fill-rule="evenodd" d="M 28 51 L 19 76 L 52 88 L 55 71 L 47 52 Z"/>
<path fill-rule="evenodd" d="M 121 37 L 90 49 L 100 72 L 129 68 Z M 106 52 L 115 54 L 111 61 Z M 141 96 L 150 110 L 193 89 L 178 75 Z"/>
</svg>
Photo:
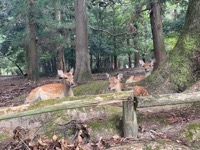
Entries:
<svg viewBox="0 0 200 150">
<path fill-rule="evenodd" d="M 117 77 L 111 76 L 106 73 L 106 76 L 108 77 L 109 82 L 109 90 L 120 92 L 124 89 L 133 89 L 134 96 L 147 96 L 149 95 L 148 91 L 143 86 L 126 86 L 121 83 L 121 79 L 123 77 L 123 74 L 118 74 Z"/>
</svg>

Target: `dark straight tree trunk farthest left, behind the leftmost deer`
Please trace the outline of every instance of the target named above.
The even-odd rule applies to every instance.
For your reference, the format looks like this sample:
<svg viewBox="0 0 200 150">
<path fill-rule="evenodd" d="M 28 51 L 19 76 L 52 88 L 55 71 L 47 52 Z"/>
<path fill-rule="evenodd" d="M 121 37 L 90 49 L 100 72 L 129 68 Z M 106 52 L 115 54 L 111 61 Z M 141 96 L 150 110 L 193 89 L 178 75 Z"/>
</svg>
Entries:
<svg viewBox="0 0 200 150">
<path fill-rule="evenodd" d="M 36 31 L 35 31 L 35 10 L 34 10 L 34 0 L 27 0 L 28 8 L 28 37 L 29 37 L 29 46 L 28 46 L 28 79 L 34 82 L 39 80 L 39 68 L 38 68 L 38 51 L 36 46 Z"/>
</svg>

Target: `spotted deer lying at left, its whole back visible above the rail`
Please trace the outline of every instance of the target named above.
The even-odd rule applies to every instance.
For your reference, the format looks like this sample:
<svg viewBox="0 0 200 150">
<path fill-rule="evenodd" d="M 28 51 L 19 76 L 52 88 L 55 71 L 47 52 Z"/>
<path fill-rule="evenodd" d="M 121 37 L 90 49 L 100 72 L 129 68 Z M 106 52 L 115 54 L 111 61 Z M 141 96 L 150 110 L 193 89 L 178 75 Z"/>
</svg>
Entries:
<svg viewBox="0 0 200 150">
<path fill-rule="evenodd" d="M 45 84 L 33 89 L 26 97 L 25 103 L 74 96 L 72 91 L 72 87 L 75 86 L 73 72 L 73 68 L 69 72 L 58 70 L 58 76 L 62 78 L 63 83 Z"/>
</svg>

